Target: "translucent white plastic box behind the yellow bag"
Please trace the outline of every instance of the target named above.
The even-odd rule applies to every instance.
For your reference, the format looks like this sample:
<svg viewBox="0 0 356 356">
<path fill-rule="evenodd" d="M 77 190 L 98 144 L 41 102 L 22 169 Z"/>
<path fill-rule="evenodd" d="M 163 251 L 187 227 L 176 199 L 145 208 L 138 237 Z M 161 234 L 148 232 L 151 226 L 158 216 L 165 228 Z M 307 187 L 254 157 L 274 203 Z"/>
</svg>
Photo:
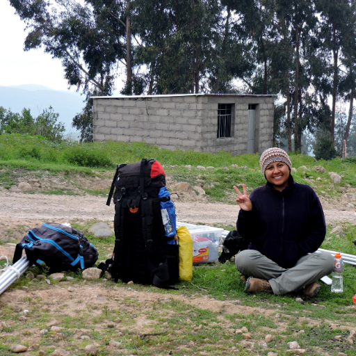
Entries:
<svg viewBox="0 0 356 356">
<path fill-rule="evenodd" d="M 188 228 L 193 238 L 193 264 L 205 264 L 218 261 L 219 244 L 224 229 L 204 225 L 179 223 Z"/>
</svg>

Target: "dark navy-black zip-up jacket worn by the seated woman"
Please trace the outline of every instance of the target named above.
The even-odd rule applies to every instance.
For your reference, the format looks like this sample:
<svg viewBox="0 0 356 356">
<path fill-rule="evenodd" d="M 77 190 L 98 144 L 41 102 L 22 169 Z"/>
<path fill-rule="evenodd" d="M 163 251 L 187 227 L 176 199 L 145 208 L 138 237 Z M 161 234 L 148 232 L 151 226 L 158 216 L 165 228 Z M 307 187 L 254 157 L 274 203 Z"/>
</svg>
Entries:
<svg viewBox="0 0 356 356">
<path fill-rule="evenodd" d="M 326 227 L 318 196 L 310 186 L 289 176 L 282 192 L 269 183 L 251 195 L 252 210 L 240 210 L 237 230 L 257 250 L 283 268 L 296 265 L 300 257 L 315 252 L 323 243 Z"/>
</svg>

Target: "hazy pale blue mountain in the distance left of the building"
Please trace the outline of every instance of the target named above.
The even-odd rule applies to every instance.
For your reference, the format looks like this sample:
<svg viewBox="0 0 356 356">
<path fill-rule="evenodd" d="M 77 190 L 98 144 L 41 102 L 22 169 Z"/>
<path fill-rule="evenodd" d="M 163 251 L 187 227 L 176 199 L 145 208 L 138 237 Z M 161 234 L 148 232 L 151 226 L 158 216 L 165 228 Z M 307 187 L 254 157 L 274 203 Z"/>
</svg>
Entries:
<svg viewBox="0 0 356 356">
<path fill-rule="evenodd" d="M 29 108 L 33 116 L 52 106 L 54 112 L 59 114 L 58 121 L 65 125 L 65 133 L 71 133 L 74 137 L 79 136 L 79 131 L 72 128 L 72 119 L 81 112 L 84 99 L 78 92 L 53 90 L 35 84 L 0 86 L 0 106 L 15 113 Z"/>
</svg>

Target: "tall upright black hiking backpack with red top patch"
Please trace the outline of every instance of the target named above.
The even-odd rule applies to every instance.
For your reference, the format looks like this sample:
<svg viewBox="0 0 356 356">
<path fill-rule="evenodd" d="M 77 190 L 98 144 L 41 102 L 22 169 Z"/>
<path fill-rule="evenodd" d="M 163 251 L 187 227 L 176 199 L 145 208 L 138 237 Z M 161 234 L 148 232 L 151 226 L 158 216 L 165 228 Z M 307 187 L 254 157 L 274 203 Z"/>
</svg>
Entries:
<svg viewBox="0 0 356 356">
<path fill-rule="evenodd" d="M 169 202 L 170 196 L 165 189 L 161 163 L 143 159 L 118 165 L 107 205 L 112 196 L 115 248 L 113 257 L 99 268 L 108 270 L 115 282 L 133 281 L 169 288 L 179 277 L 179 246 L 175 233 L 168 234 L 163 225 L 162 216 L 166 220 L 167 211 L 163 209 L 165 213 L 161 213 L 161 202 Z"/>
</svg>

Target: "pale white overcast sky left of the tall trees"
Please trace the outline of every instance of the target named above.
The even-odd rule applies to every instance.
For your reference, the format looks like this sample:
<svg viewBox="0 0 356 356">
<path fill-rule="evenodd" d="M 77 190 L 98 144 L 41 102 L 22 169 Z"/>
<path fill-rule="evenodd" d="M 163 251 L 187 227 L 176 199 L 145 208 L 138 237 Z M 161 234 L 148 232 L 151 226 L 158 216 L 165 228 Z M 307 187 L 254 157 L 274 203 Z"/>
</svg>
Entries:
<svg viewBox="0 0 356 356">
<path fill-rule="evenodd" d="M 15 15 L 10 1 L 0 0 L 0 86 L 38 84 L 67 90 L 60 60 L 42 49 L 24 51 L 25 24 Z M 121 79 L 117 86 L 120 86 Z M 75 91 L 75 88 L 71 89 Z"/>
</svg>

